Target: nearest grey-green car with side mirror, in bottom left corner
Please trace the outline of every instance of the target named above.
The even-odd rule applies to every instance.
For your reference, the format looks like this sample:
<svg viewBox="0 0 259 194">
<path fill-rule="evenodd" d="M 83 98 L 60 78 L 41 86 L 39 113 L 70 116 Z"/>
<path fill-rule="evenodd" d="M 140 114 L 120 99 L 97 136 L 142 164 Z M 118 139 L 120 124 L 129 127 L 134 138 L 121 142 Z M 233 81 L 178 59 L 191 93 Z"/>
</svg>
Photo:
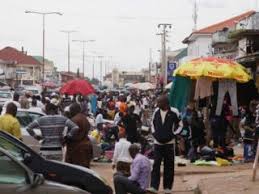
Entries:
<svg viewBox="0 0 259 194">
<path fill-rule="evenodd" d="M 41 174 L 33 173 L 1 147 L 0 166 L 0 190 L 5 194 L 56 194 L 58 192 L 62 194 L 90 194 L 76 187 L 45 181 Z"/>
</svg>

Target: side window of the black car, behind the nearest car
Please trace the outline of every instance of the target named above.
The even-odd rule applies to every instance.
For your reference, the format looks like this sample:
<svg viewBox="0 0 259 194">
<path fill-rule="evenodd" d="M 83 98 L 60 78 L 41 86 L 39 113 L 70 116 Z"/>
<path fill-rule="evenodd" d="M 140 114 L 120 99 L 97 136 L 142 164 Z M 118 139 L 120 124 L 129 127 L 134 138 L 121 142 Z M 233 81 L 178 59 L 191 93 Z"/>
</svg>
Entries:
<svg viewBox="0 0 259 194">
<path fill-rule="evenodd" d="M 22 149 L 17 147 L 12 142 L 8 141 L 6 138 L 0 136 L 0 147 L 7 150 L 12 156 L 14 156 L 17 160 L 23 160 L 23 152 Z"/>
</svg>

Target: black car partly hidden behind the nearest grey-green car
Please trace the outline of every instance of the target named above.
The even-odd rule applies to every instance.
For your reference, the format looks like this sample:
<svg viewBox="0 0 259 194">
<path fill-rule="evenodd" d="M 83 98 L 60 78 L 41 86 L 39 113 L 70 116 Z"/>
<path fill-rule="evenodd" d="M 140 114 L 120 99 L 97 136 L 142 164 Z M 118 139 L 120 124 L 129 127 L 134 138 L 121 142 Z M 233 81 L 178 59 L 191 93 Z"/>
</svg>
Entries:
<svg viewBox="0 0 259 194">
<path fill-rule="evenodd" d="M 8 133 L 0 131 L 0 147 L 34 173 L 39 173 L 49 181 L 79 187 L 91 194 L 112 194 L 111 187 L 94 171 L 72 164 L 47 160 L 23 142 Z"/>
</svg>

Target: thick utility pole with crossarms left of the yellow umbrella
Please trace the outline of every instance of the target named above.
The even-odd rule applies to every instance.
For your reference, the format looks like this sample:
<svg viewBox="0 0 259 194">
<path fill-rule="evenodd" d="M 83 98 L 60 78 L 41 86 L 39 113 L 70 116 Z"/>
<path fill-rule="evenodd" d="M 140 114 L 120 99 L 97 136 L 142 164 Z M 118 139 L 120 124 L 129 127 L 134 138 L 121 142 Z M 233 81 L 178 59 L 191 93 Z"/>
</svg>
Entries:
<svg viewBox="0 0 259 194">
<path fill-rule="evenodd" d="M 167 37 L 167 29 L 172 28 L 172 24 L 158 24 L 158 28 L 162 28 L 162 64 L 161 64 L 161 77 L 163 78 L 163 85 L 165 86 L 167 84 L 167 55 L 166 55 L 166 37 Z"/>
</svg>

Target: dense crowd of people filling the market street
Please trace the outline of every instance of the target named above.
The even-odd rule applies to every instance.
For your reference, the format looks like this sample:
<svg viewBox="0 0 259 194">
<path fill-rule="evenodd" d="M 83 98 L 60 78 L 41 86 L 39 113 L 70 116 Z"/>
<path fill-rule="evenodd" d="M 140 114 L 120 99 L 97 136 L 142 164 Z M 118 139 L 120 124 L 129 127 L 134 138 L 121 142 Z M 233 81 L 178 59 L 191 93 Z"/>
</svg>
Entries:
<svg viewBox="0 0 259 194">
<path fill-rule="evenodd" d="M 2 107 L 0 129 L 22 140 L 16 118 L 19 108 L 46 114 L 33 120 L 26 130 L 41 142 L 40 154 L 47 159 L 90 168 L 94 159 L 90 138 L 101 145 L 102 157 L 112 153 L 109 159 L 116 169 L 116 194 L 157 193 L 162 162 L 163 188 L 169 194 L 174 182 L 175 155 L 192 162 L 201 157 L 213 160 L 216 155 L 228 158 L 233 156 L 229 145 L 240 143 L 241 137 L 244 158 L 251 161 L 259 134 L 258 103 L 252 101 L 249 107 L 240 107 L 239 116 L 234 117 L 228 96 L 222 114 L 216 116 L 213 107 L 209 115 L 204 115 L 192 103 L 180 113 L 170 107 L 165 93 L 150 91 L 103 92 L 88 97 L 58 93 L 33 96 L 30 92 L 19 96 L 14 93 L 13 100 Z M 236 127 L 236 122 L 240 126 Z M 41 135 L 35 129 L 40 129 Z M 153 164 L 150 159 L 154 160 Z"/>
</svg>

